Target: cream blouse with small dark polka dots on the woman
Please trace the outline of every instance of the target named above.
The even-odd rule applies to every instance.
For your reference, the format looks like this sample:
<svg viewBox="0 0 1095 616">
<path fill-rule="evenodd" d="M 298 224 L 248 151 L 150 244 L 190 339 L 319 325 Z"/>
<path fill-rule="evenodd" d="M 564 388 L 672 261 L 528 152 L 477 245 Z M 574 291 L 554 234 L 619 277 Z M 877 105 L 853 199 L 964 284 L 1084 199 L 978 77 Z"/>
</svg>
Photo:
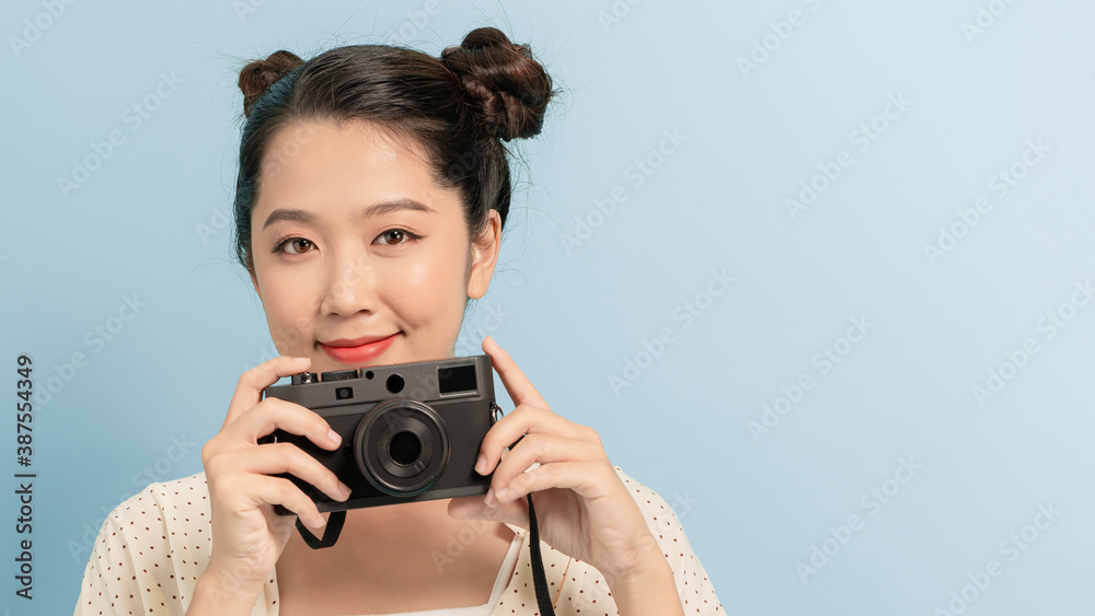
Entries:
<svg viewBox="0 0 1095 616">
<path fill-rule="evenodd" d="M 616 473 L 661 546 L 684 614 L 723 614 L 714 588 L 696 559 L 672 508 L 654 490 Z M 528 532 L 510 526 L 522 542 L 517 566 L 489 616 L 539 616 L 532 584 Z M 77 615 L 183 614 L 208 562 L 209 493 L 205 474 L 152 484 L 119 504 L 103 523 L 84 570 Z M 612 592 L 596 568 L 541 543 L 548 588 L 560 616 L 615 616 Z M 272 571 L 252 616 L 276 615 L 278 593 Z M 463 612 L 461 612 L 463 613 Z M 445 616 L 448 609 L 416 613 Z"/>
</svg>

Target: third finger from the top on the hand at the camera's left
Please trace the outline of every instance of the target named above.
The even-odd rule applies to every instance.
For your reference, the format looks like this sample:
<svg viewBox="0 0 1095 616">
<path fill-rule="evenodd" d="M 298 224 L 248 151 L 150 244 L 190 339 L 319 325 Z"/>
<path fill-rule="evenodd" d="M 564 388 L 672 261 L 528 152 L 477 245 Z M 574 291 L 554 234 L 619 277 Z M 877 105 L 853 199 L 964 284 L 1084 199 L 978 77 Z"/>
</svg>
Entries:
<svg viewBox="0 0 1095 616">
<path fill-rule="evenodd" d="M 334 500 L 344 501 L 349 498 L 349 487 L 339 481 L 334 472 L 292 443 L 269 443 L 226 453 L 214 460 L 211 466 L 214 473 L 217 467 L 233 468 L 252 475 L 288 473 L 315 486 Z"/>
</svg>

